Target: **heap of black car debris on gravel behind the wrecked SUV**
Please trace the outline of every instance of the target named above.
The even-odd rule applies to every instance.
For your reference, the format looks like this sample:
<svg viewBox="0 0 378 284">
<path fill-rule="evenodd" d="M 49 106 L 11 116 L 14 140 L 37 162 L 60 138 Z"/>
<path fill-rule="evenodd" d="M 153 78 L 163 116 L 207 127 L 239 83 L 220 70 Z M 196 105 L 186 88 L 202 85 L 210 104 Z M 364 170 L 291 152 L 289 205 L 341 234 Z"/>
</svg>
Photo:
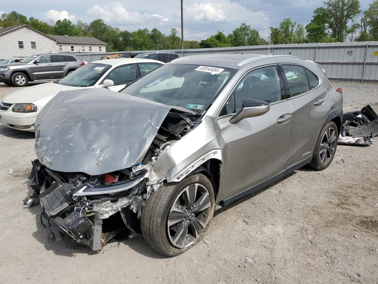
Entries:
<svg viewBox="0 0 378 284">
<path fill-rule="evenodd" d="M 378 115 L 370 105 L 361 111 L 345 112 L 337 143 L 339 145 L 370 146 L 370 138 L 378 136 Z"/>
</svg>

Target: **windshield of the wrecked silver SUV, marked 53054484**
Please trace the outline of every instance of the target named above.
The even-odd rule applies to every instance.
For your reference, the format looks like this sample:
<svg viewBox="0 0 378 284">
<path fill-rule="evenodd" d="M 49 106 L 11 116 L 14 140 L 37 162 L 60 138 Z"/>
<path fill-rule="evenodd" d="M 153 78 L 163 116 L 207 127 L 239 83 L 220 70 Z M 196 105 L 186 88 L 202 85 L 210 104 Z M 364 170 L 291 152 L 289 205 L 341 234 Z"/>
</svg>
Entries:
<svg viewBox="0 0 378 284">
<path fill-rule="evenodd" d="M 236 70 L 167 64 L 125 87 L 121 93 L 200 112 L 208 108 Z"/>
</svg>

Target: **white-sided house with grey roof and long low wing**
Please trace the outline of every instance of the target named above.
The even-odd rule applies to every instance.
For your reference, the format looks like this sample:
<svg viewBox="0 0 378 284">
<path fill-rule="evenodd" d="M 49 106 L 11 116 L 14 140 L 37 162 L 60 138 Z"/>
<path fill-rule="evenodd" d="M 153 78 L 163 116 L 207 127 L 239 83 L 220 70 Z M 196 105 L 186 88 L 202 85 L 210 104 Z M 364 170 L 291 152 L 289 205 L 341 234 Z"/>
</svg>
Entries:
<svg viewBox="0 0 378 284">
<path fill-rule="evenodd" d="M 28 25 L 0 27 L 0 58 L 45 52 L 105 52 L 106 43 L 94 37 L 53 36 Z"/>
</svg>

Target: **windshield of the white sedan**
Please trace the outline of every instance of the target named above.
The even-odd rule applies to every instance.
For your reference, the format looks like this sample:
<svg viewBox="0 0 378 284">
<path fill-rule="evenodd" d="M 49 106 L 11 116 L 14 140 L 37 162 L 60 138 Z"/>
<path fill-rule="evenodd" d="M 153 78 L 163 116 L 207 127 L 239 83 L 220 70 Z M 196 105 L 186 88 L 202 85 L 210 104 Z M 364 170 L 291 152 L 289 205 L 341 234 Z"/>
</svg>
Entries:
<svg viewBox="0 0 378 284">
<path fill-rule="evenodd" d="M 110 67 L 107 64 L 87 63 L 65 76 L 58 84 L 72 87 L 93 86 Z"/>
</svg>

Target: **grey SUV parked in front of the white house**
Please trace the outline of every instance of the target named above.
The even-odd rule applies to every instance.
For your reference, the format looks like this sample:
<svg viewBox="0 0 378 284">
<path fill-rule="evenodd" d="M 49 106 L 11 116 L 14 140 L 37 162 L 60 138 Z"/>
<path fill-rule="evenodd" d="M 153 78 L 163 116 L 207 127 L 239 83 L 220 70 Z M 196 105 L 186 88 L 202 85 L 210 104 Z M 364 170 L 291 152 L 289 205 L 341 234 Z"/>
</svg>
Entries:
<svg viewBox="0 0 378 284">
<path fill-rule="evenodd" d="M 59 80 L 82 65 L 84 65 L 84 61 L 73 54 L 30 55 L 19 63 L 0 66 L 0 82 L 23 87 L 30 81 Z"/>
</svg>

